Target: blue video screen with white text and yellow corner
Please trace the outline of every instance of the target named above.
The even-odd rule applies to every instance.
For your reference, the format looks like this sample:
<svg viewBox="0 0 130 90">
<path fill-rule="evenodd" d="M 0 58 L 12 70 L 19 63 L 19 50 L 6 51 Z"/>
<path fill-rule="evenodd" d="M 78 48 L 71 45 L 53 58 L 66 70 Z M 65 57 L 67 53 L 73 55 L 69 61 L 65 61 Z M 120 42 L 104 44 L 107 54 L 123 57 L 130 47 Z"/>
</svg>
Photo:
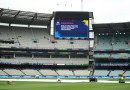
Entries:
<svg viewBox="0 0 130 90">
<path fill-rule="evenodd" d="M 55 20 L 55 38 L 88 38 L 88 19 Z"/>
</svg>

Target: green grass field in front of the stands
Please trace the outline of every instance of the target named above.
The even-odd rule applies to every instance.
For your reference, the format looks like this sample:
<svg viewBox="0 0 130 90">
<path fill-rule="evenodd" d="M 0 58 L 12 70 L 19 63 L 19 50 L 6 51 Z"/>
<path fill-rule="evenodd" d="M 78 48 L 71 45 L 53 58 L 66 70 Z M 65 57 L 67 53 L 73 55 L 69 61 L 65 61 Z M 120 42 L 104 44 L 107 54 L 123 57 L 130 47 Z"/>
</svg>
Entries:
<svg viewBox="0 0 130 90">
<path fill-rule="evenodd" d="M 130 90 L 126 83 L 0 82 L 0 90 Z"/>
</svg>

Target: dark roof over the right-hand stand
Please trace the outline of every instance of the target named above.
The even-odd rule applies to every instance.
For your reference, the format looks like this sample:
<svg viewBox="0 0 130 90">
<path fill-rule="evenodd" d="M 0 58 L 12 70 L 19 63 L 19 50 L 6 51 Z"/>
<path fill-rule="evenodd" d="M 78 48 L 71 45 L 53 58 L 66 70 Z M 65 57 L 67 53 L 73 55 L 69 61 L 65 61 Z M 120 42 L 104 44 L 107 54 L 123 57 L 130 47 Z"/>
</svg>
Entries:
<svg viewBox="0 0 130 90">
<path fill-rule="evenodd" d="M 130 22 L 93 24 L 95 33 L 130 33 Z"/>
</svg>

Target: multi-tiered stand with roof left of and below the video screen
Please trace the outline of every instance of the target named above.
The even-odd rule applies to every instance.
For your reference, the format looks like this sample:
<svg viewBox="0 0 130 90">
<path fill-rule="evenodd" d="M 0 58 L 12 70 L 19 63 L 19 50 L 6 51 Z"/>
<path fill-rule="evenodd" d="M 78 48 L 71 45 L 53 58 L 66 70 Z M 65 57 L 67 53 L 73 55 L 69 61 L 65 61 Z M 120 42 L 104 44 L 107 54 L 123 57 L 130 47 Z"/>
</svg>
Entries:
<svg viewBox="0 0 130 90">
<path fill-rule="evenodd" d="M 8 24 L 0 25 L 0 75 L 89 76 L 92 72 L 89 39 L 55 39 L 50 35 L 53 14 L 3 8 L 0 13 L 0 23 Z"/>
</svg>

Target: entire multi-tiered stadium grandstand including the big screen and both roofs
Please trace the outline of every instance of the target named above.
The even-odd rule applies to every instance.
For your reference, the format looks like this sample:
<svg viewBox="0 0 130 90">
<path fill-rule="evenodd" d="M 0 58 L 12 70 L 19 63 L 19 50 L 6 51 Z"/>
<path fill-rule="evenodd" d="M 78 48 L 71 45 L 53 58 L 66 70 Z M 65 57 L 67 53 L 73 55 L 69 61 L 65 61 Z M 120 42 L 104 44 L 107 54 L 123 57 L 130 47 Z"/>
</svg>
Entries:
<svg viewBox="0 0 130 90">
<path fill-rule="evenodd" d="M 0 25 L 0 77 L 130 77 L 129 22 L 93 24 L 92 12 L 46 14 L 1 8 L 0 13 L 0 23 L 7 24 Z M 73 26 L 75 22 L 83 24 L 83 32 Z"/>
</svg>

